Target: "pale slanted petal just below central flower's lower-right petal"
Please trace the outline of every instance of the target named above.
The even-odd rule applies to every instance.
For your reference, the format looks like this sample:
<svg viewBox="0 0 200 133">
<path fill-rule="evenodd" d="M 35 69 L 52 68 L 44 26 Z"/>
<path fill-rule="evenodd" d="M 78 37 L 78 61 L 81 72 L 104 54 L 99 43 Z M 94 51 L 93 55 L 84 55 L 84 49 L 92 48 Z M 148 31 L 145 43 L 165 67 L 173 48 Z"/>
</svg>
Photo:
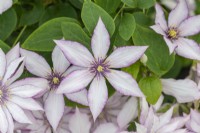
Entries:
<svg viewBox="0 0 200 133">
<path fill-rule="evenodd" d="M 135 97 L 131 97 L 128 102 L 123 106 L 122 110 L 117 116 L 117 123 L 120 129 L 128 126 L 131 120 L 137 116 L 138 103 Z"/>
</svg>

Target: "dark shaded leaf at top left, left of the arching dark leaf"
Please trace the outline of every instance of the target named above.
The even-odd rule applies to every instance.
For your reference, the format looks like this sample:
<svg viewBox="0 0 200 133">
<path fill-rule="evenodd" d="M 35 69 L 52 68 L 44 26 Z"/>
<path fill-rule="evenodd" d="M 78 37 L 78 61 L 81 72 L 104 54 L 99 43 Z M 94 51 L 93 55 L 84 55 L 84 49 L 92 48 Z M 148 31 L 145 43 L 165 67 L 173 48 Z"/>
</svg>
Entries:
<svg viewBox="0 0 200 133">
<path fill-rule="evenodd" d="M 24 10 L 20 18 L 19 26 L 32 25 L 39 22 L 42 14 L 44 13 L 44 6 L 38 0 L 33 4 L 31 10 Z"/>
</svg>

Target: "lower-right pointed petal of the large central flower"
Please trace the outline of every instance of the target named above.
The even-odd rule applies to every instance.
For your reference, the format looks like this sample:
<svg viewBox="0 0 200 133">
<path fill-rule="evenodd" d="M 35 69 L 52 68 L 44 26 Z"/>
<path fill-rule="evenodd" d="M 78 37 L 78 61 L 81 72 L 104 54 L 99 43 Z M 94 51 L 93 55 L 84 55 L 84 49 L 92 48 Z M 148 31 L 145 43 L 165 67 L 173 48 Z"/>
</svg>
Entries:
<svg viewBox="0 0 200 133">
<path fill-rule="evenodd" d="M 138 87 L 137 82 L 128 73 L 110 70 L 110 72 L 106 73 L 106 78 L 117 91 L 124 95 L 137 97 L 144 96 Z"/>
</svg>

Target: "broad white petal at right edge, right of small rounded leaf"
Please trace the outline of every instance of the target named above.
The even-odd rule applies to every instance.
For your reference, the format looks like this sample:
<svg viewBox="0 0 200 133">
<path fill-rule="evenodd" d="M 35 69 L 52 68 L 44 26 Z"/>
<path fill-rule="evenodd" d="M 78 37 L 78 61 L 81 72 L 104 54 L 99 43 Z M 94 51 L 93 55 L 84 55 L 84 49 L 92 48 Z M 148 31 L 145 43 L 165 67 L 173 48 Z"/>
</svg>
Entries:
<svg viewBox="0 0 200 133">
<path fill-rule="evenodd" d="M 196 83 L 190 79 L 162 79 L 163 92 L 174 96 L 179 103 L 192 102 L 200 98 Z"/>
</svg>

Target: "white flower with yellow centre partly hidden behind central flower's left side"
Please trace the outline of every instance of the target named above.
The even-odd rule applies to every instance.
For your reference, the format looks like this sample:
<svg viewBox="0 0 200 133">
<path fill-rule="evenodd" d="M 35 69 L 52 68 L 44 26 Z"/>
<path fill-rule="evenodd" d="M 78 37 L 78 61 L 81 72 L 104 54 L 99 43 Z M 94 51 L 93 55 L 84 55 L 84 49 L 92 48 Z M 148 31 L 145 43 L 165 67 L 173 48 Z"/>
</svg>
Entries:
<svg viewBox="0 0 200 133">
<path fill-rule="evenodd" d="M 55 47 L 52 52 L 53 70 L 51 70 L 50 66 L 42 56 L 24 49 L 21 49 L 20 53 L 25 57 L 25 66 L 27 70 L 30 73 L 41 77 L 42 80 L 45 80 L 46 82 L 46 86 L 44 86 L 46 87 L 46 93 L 43 97 L 44 109 L 49 123 L 52 125 L 53 129 L 56 130 L 64 113 L 65 102 L 63 94 L 56 94 L 55 91 L 70 72 L 79 68 L 72 66 L 68 69 L 70 63 L 58 47 Z M 82 91 L 80 92 L 73 94 L 68 93 L 65 94 L 65 96 L 72 101 L 88 105 L 87 90 L 84 88 L 82 88 Z"/>
</svg>

